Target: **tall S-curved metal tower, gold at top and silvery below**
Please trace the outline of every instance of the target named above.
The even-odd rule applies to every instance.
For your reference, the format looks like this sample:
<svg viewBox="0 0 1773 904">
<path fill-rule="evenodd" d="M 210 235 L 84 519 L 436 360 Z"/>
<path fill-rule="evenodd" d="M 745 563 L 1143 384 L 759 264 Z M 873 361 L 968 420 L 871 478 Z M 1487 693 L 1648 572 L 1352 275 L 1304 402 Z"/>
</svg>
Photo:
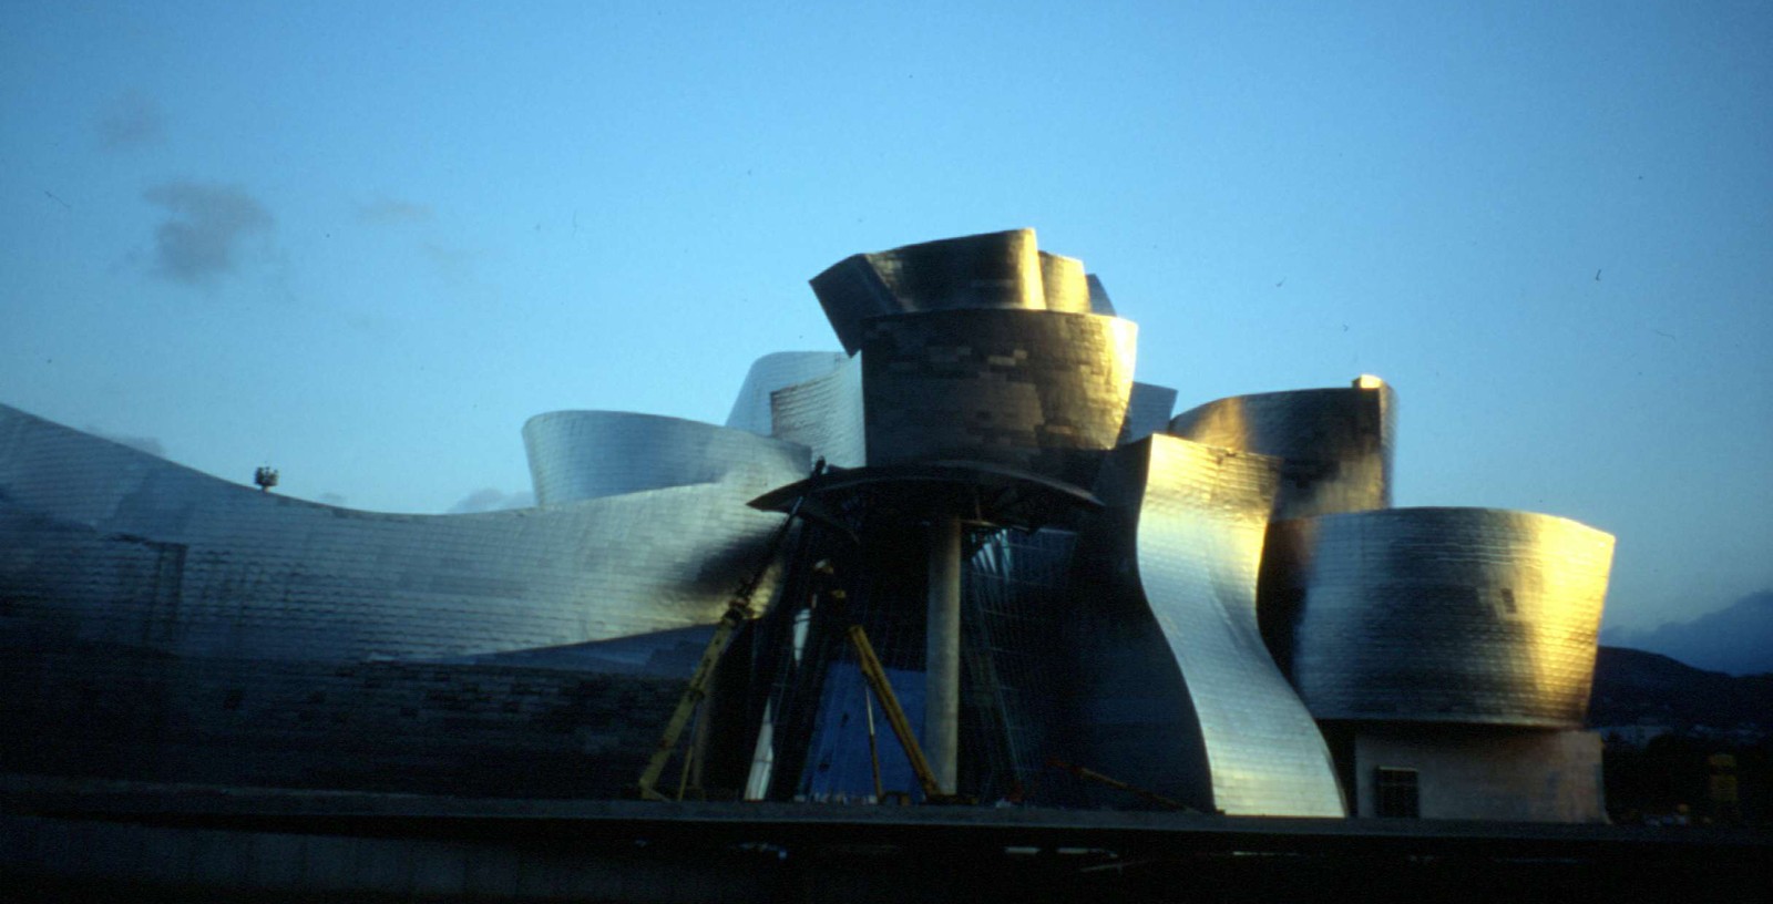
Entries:
<svg viewBox="0 0 1773 904">
<path fill-rule="evenodd" d="M 1133 535 L 1122 541 L 1135 567 L 1115 567 L 1131 573 L 1117 592 L 1144 597 L 1175 656 L 1200 723 L 1213 805 L 1239 815 L 1344 815 L 1330 750 L 1255 622 L 1280 463 L 1163 434 L 1117 450 L 1110 463 L 1101 493 L 1110 505 L 1136 509 Z"/>
</svg>

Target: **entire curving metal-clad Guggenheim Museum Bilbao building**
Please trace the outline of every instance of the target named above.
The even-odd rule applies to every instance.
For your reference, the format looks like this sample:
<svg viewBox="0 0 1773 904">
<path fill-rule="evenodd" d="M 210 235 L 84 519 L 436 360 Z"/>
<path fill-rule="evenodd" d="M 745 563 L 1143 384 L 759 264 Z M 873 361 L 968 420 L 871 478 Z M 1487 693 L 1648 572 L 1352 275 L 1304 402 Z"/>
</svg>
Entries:
<svg viewBox="0 0 1773 904">
<path fill-rule="evenodd" d="M 1394 509 L 1386 383 L 1177 415 L 1032 230 L 812 289 L 844 351 L 757 360 L 725 425 L 534 417 L 530 509 L 300 502 L 0 408 L 0 771 L 631 794 L 755 581 L 668 785 L 922 799 L 920 748 L 977 805 L 1605 819 L 1613 539 Z"/>
</svg>

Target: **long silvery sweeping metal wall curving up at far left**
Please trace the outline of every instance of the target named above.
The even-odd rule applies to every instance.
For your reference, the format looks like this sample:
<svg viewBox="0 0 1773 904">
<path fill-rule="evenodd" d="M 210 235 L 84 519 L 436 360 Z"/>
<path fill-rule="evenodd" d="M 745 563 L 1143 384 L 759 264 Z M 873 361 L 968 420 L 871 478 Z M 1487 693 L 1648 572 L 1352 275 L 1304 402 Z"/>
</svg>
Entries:
<svg viewBox="0 0 1773 904">
<path fill-rule="evenodd" d="M 746 493 L 360 512 L 0 408 L 0 596 L 11 629 L 179 656 L 420 659 L 598 642 L 713 624 L 780 523 Z"/>
</svg>

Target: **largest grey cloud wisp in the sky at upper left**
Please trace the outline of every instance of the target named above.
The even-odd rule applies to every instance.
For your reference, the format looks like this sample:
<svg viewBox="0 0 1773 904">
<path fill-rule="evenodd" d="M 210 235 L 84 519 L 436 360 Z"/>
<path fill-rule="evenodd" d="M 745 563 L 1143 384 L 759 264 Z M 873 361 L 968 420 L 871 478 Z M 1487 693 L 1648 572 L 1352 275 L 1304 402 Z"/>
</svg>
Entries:
<svg viewBox="0 0 1773 904">
<path fill-rule="evenodd" d="M 238 186 L 165 183 L 142 197 L 168 214 L 154 229 L 154 273 L 174 282 L 230 273 L 239 241 L 271 229 L 269 211 Z"/>
</svg>

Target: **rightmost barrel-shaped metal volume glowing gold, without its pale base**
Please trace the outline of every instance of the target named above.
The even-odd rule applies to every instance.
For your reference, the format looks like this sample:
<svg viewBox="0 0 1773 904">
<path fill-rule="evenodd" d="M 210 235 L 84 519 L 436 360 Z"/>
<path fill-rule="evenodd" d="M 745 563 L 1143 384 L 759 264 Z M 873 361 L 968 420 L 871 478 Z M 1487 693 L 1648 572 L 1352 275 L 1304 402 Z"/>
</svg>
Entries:
<svg viewBox="0 0 1773 904">
<path fill-rule="evenodd" d="M 1392 509 L 1278 523 L 1268 544 L 1264 622 L 1314 716 L 1582 725 L 1610 534 Z"/>
</svg>

